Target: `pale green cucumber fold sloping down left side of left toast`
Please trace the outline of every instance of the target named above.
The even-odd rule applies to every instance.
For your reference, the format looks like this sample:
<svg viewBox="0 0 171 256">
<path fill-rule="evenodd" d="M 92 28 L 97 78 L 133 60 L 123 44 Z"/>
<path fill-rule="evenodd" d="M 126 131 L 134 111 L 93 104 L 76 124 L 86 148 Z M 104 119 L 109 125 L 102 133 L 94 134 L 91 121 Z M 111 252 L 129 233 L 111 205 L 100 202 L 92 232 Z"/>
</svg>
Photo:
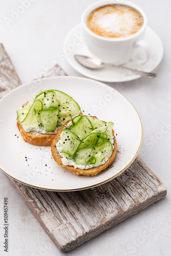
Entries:
<svg viewBox="0 0 171 256">
<path fill-rule="evenodd" d="M 42 109 L 42 102 L 40 100 L 36 100 L 31 106 L 27 116 L 21 122 L 22 124 L 35 127 L 37 125 L 41 125 L 41 118 L 38 112 Z"/>
</svg>

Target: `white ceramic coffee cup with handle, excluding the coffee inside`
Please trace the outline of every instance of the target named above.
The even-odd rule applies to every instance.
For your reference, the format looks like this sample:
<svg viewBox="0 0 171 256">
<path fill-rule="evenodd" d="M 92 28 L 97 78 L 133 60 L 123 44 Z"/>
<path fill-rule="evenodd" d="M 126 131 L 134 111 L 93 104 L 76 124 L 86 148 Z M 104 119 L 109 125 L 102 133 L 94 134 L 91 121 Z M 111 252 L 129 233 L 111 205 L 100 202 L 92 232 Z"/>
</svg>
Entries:
<svg viewBox="0 0 171 256">
<path fill-rule="evenodd" d="M 98 7 L 110 4 L 123 4 L 128 5 L 138 10 L 144 19 L 144 23 L 140 30 L 130 36 L 124 38 L 108 38 L 102 37 L 92 32 L 87 24 L 88 15 Z M 147 42 L 144 41 L 145 30 L 147 26 L 147 18 L 144 11 L 128 1 L 100 1 L 89 6 L 82 14 L 81 24 L 83 35 L 86 38 L 86 45 L 89 48 L 93 56 L 96 56 L 105 63 L 123 64 L 129 61 L 134 55 L 135 48 L 142 47 L 146 53 L 146 57 L 149 58 L 151 50 Z"/>
</svg>

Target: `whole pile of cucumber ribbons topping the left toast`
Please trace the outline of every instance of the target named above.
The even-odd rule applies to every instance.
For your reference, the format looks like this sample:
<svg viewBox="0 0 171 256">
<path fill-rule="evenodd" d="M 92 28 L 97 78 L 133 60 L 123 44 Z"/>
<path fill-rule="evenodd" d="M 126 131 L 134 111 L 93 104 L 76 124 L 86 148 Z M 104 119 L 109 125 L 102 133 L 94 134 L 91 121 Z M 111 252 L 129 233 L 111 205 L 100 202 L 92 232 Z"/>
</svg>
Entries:
<svg viewBox="0 0 171 256">
<path fill-rule="evenodd" d="M 17 117 L 19 123 L 32 128 L 37 125 L 44 126 L 46 132 L 54 132 L 56 127 L 63 126 L 79 111 L 79 105 L 69 95 L 57 90 L 47 90 L 36 95 L 31 107 L 18 110 Z M 48 116 L 49 120 L 47 120 Z"/>
</svg>

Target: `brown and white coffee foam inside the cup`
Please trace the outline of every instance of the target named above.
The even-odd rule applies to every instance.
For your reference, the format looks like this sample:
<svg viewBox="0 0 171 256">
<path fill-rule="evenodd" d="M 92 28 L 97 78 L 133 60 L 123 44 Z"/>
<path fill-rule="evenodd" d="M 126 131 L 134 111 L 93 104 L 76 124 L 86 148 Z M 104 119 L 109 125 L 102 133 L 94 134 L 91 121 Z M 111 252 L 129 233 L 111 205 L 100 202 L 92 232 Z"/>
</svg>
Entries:
<svg viewBox="0 0 171 256">
<path fill-rule="evenodd" d="M 143 16 L 136 9 L 120 4 L 101 6 L 87 18 L 87 26 L 103 37 L 123 38 L 137 33 L 143 25 Z"/>
</svg>

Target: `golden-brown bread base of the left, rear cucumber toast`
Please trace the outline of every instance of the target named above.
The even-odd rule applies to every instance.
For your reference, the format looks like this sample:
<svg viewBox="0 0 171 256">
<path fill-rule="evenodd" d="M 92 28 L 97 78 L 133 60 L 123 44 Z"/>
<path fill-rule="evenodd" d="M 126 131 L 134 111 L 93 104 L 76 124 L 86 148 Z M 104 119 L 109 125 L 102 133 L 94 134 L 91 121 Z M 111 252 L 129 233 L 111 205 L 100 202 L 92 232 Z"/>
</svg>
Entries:
<svg viewBox="0 0 171 256">
<path fill-rule="evenodd" d="M 27 102 L 28 103 L 28 102 Z M 27 105 L 27 103 L 24 104 L 24 106 Z M 80 114 L 82 115 L 82 112 L 80 111 Z M 71 120 L 69 120 L 71 121 Z M 35 135 L 34 132 L 26 132 L 23 128 L 23 125 L 18 122 L 17 118 L 17 127 L 19 129 L 20 134 L 22 135 L 24 141 L 35 145 L 35 146 L 50 146 L 52 143 L 52 140 L 55 138 L 56 134 L 39 134 Z"/>
</svg>

